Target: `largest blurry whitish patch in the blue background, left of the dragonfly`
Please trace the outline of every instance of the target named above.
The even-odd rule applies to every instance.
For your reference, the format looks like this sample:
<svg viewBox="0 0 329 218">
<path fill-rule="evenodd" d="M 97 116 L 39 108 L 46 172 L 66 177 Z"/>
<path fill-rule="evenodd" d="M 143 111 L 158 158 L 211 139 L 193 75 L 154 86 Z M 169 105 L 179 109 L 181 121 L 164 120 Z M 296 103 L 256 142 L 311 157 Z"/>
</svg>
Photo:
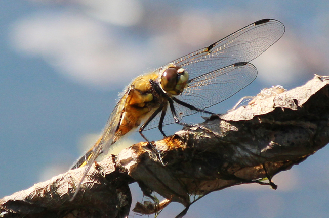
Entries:
<svg viewBox="0 0 329 218">
<path fill-rule="evenodd" d="M 94 87 L 122 87 L 122 80 L 146 68 L 143 46 L 74 12 L 39 13 L 17 21 L 11 42 L 27 56 L 43 57 L 63 76 Z"/>
</svg>

